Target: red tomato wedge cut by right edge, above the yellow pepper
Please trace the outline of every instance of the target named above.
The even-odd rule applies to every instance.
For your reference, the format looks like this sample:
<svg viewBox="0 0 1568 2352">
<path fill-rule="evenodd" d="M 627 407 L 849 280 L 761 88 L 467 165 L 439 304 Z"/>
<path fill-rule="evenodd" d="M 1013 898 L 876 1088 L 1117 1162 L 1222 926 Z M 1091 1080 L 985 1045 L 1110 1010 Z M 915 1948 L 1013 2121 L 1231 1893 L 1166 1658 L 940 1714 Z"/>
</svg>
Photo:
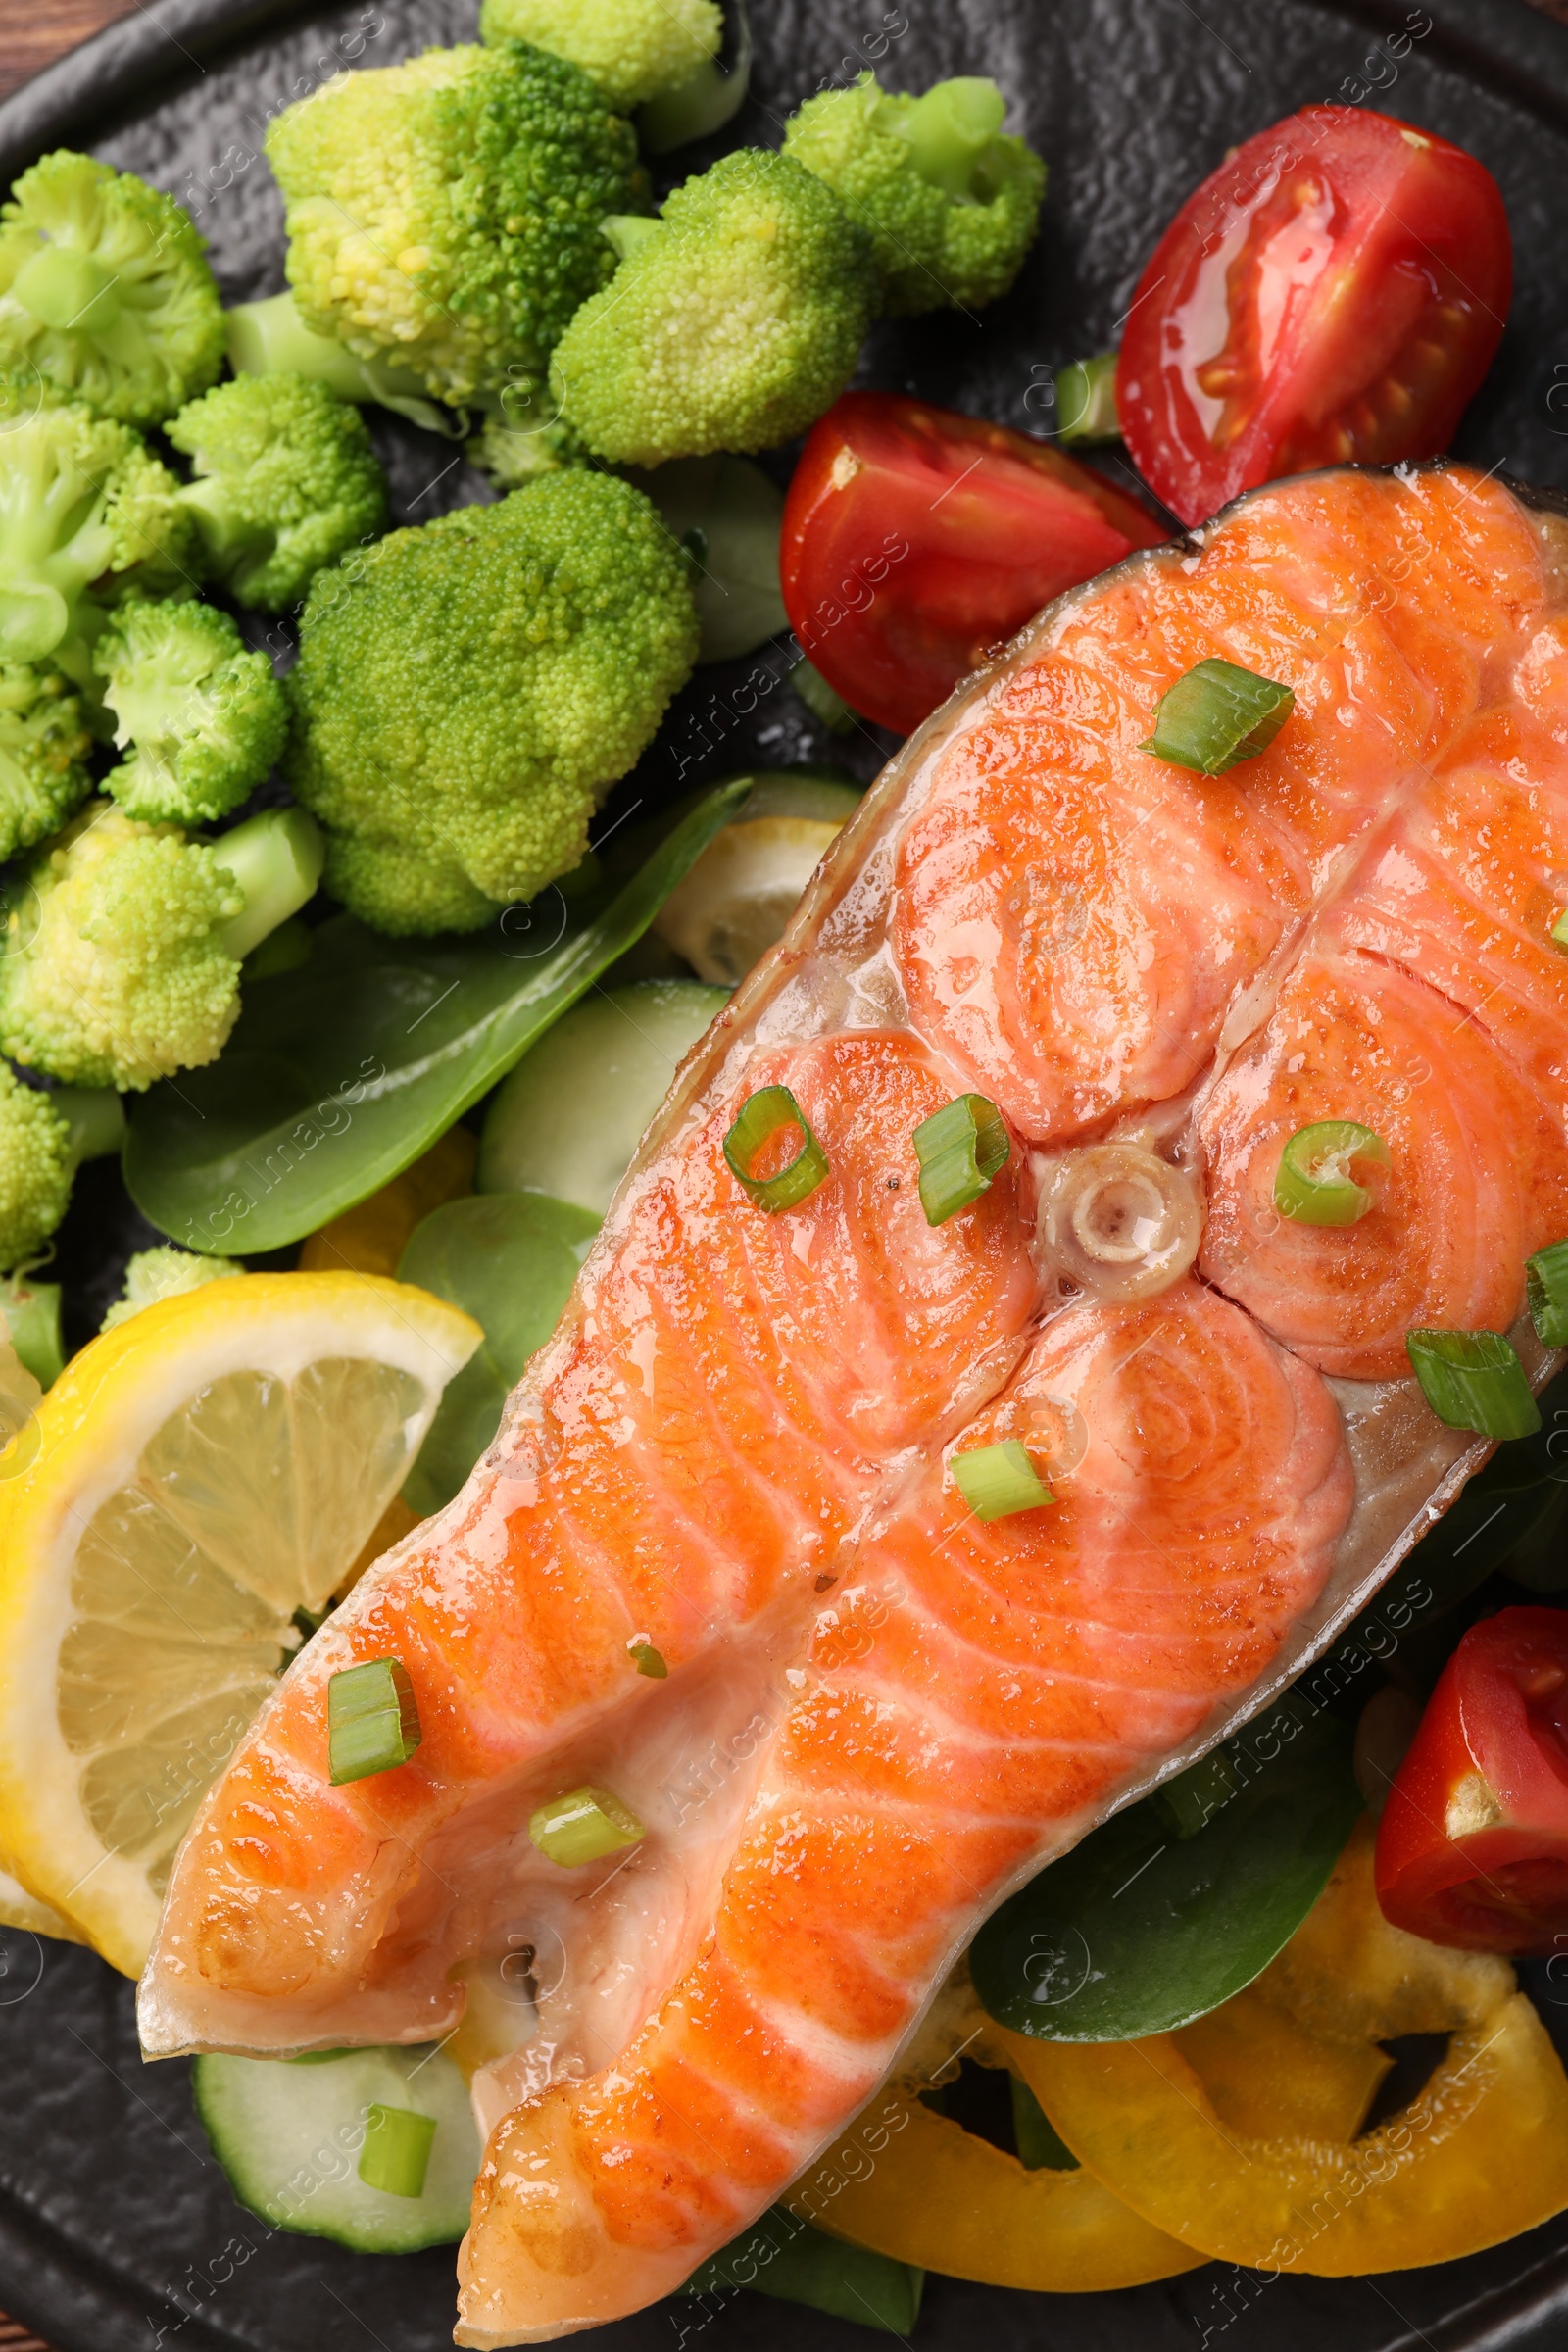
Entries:
<svg viewBox="0 0 1568 2352">
<path fill-rule="evenodd" d="M 1568 1611 L 1472 1625 L 1378 1825 L 1385 1919 L 1469 1952 L 1568 1950 Z"/>
</svg>

